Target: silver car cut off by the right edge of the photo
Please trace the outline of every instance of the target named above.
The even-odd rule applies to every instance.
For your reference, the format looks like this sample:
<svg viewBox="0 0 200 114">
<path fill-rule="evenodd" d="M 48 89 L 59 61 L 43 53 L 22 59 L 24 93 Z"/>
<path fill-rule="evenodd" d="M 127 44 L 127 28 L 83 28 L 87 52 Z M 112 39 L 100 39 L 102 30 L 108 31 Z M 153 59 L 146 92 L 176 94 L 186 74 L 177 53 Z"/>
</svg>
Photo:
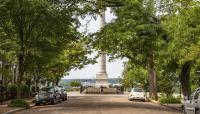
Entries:
<svg viewBox="0 0 200 114">
<path fill-rule="evenodd" d="M 200 88 L 197 88 L 192 95 L 185 97 L 183 103 L 183 114 L 200 114 Z"/>
</svg>

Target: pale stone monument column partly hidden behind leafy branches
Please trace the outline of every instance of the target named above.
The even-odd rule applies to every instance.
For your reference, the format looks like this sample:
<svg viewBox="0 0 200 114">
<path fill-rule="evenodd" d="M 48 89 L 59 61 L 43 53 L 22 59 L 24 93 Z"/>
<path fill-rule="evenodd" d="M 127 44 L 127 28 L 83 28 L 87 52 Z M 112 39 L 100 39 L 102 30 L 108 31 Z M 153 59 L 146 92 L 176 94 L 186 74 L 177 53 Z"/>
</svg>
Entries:
<svg viewBox="0 0 200 114">
<path fill-rule="evenodd" d="M 101 11 L 100 15 L 100 30 L 105 25 L 105 11 Z M 96 73 L 96 87 L 109 87 L 108 84 L 108 76 L 106 72 L 106 54 L 105 52 L 100 51 L 99 52 L 100 57 L 98 60 L 98 69 Z"/>
</svg>

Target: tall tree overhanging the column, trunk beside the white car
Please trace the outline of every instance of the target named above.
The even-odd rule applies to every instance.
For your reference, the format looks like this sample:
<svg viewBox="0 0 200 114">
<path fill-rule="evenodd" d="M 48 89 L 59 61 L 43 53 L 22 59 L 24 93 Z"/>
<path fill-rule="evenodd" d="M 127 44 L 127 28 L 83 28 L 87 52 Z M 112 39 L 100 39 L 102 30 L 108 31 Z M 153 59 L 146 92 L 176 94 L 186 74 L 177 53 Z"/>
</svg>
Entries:
<svg viewBox="0 0 200 114">
<path fill-rule="evenodd" d="M 150 93 L 157 99 L 155 57 L 166 35 L 149 0 L 125 0 L 115 8 L 117 16 L 94 38 L 94 46 L 112 57 L 126 57 L 148 70 Z"/>
</svg>

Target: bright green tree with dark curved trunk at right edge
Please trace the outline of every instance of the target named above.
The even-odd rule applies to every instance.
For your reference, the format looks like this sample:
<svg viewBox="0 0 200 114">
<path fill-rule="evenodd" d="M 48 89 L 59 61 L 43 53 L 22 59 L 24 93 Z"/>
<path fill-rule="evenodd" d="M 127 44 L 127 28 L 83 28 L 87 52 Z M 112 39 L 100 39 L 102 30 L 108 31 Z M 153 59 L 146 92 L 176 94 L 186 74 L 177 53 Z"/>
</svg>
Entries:
<svg viewBox="0 0 200 114">
<path fill-rule="evenodd" d="M 176 1 L 173 13 L 163 18 L 163 25 L 170 35 L 165 62 L 170 72 L 179 75 L 184 96 L 191 94 L 191 69 L 199 57 L 198 1 Z M 179 5 L 177 5 L 179 4 Z M 193 17 L 193 18 L 191 18 Z"/>
</svg>

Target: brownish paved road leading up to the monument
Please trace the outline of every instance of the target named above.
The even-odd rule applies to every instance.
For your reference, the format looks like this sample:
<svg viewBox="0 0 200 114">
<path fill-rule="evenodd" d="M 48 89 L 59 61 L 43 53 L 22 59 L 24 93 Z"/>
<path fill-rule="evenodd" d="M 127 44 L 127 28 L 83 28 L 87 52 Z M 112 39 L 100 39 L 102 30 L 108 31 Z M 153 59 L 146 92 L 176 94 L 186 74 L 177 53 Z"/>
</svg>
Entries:
<svg viewBox="0 0 200 114">
<path fill-rule="evenodd" d="M 126 95 L 69 96 L 57 105 L 37 106 L 16 114 L 180 114 L 150 102 L 131 102 Z"/>
</svg>

